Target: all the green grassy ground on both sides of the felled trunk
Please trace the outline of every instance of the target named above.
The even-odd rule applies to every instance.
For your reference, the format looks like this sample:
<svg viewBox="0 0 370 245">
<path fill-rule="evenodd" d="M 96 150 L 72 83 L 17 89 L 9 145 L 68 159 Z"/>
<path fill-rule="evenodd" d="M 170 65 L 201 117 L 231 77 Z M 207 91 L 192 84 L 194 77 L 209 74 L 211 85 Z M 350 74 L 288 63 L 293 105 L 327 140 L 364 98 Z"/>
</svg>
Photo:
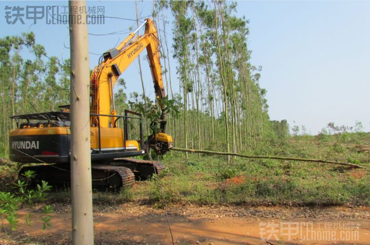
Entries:
<svg viewBox="0 0 370 245">
<path fill-rule="evenodd" d="M 342 137 L 343 138 L 343 137 Z M 369 144 L 370 134 L 350 134 L 342 142 L 326 136 L 330 144 L 317 144 L 318 137 L 295 137 L 259 145 L 254 155 L 296 156 L 321 159 L 369 158 L 369 153 L 357 153 L 351 143 Z M 349 140 L 350 139 L 350 140 Z M 166 170 L 159 178 L 164 197 L 171 204 L 243 204 L 243 205 L 370 205 L 370 175 L 368 170 L 344 166 L 279 160 L 232 158 L 170 152 L 162 160 Z M 360 162 L 359 162 L 360 163 Z M 360 163 L 365 164 L 365 163 Z M 2 166 L 4 168 L 5 166 Z M 2 169 L 8 179 L 1 182 L 9 187 L 14 179 L 15 165 Z M 5 186 L 2 184 L 2 186 Z M 69 202 L 69 191 L 50 195 L 49 202 Z M 160 188 L 155 178 L 137 182 L 120 193 L 95 192 L 96 205 L 136 202 L 163 206 Z"/>
</svg>

